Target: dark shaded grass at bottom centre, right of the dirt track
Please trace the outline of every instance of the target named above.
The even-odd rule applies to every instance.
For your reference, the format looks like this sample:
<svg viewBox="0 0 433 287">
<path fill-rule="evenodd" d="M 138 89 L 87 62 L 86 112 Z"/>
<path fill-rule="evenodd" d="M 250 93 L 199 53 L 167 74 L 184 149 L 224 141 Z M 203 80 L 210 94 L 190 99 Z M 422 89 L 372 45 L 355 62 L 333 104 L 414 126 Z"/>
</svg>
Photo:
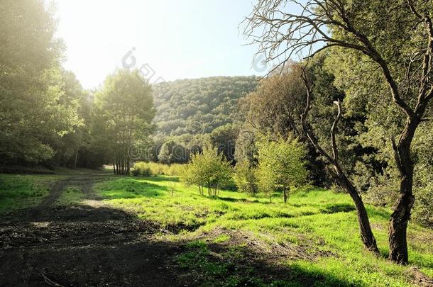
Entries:
<svg viewBox="0 0 433 287">
<path fill-rule="evenodd" d="M 327 271 L 297 264 L 296 259 L 282 264 L 294 257 L 302 259 L 305 254 L 301 251 L 263 253 L 258 248 L 261 243 L 249 243 L 252 244 L 231 237 L 222 243 L 185 244 L 184 252 L 176 258 L 180 270 L 184 271 L 180 281 L 194 282 L 194 286 L 354 286 Z"/>
</svg>

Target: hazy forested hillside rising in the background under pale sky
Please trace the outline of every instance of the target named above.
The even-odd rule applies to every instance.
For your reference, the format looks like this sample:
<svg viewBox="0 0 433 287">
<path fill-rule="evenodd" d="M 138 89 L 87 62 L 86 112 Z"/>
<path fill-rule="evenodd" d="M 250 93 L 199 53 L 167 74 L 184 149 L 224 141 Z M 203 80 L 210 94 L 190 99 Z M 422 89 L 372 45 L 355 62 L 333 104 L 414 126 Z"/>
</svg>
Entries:
<svg viewBox="0 0 433 287">
<path fill-rule="evenodd" d="M 153 87 L 157 133 L 211 133 L 243 120 L 239 99 L 256 89 L 258 77 L 181 79 Z"/>
</svg>

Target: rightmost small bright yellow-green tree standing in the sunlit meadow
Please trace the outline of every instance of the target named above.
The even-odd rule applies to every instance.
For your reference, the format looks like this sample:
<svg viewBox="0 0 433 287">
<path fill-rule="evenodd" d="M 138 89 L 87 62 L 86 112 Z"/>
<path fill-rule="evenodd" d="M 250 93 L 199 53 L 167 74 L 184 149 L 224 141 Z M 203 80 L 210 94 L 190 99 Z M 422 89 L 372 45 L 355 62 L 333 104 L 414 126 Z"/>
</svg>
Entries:
<svg viewBox="0 0 433 287">
<path fill-rule="evenodd" d="M 258 137 L 257 146 L 259 188 L 268 193 L 271 202 L 273 191 L 283 191 L 287 203 L 290 188 L 307 183 L 305 147 L 297 139 L 271 140 L 267 136 Z"/>
</svg>

